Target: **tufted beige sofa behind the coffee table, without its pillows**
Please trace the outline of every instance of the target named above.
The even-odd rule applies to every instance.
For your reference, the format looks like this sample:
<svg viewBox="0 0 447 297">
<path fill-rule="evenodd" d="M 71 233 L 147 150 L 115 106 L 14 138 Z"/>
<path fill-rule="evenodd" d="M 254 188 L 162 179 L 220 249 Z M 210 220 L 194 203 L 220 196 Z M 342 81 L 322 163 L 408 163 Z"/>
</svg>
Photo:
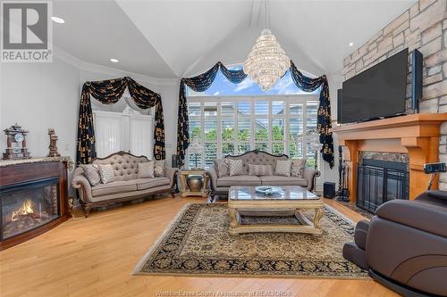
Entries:
<svg viewBox="0 0 447 297">
<path fill-rule="evenodd" d="M 274 156 L 273 154 L 262 151 L 250 151 L 237 156 L 226 156 L 230 159 L 241 159 L 244 174 L 241 176 L 218 177 L 214 167 L 208 169 L 211 187 L 211 200 L 215 195 L 227 195 L 230 186 L 303 186 L 309 191 L 314 190 L 315 177 L 320 176 L 320 171 L 306 168 L 304 177 L 283 177 L 283 176 L 249 176 L 249 165 L 272 165 L 275 168 L 277 160 L 287 160 L 289 157 L 285 154 Z"/>
</svg>

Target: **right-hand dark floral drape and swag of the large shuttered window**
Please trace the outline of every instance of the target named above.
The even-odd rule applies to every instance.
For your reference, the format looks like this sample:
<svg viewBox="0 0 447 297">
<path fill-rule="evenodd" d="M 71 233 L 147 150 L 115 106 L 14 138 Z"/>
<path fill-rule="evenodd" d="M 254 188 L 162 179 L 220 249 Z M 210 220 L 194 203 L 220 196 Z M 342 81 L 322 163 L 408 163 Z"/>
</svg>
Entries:
<svg viewBox="0 0 447 297">
<path fill-rule="evenodd" d="M 319 78 L 309 78 L 303 75 L 291 62 L 291 78 L 297 87 L 305 92 L 314 92 L 318 87 L 320 90 L 320 99 L 318 105 L 318 115 L 316 118 L 316 131 L 320 135 L 320 144 L 323 144 L 321 153 L 323 160 L 329 163 L 333 168 L 333 133 L 331 121 L 331 102 L 329 100 L 329 84 L 325 75 Z"/>
</svg>

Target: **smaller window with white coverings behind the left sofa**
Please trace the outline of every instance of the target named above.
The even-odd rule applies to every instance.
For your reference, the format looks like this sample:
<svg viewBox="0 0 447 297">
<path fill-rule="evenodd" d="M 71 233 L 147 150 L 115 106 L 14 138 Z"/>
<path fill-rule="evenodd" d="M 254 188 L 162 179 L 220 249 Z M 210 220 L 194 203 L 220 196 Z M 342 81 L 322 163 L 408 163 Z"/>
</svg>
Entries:
<svg viewBox="0 0 447 297">
<path fill-rule="evenodd" d="M 123 112 L 93 111 L 97 157 L 124 151 L 153 158 L 153 118 L 132 112 L 130 108 Z"/>
</svg>

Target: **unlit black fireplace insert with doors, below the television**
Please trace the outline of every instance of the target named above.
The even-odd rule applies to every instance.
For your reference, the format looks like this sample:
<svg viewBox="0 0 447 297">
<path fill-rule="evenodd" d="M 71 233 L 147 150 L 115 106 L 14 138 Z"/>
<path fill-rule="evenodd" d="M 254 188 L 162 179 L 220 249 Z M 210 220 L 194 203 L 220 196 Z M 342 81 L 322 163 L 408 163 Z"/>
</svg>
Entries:
<svg viewBox="0 0 447 297">
<path fill-rule="evenodd" d="M 374 213 L 393 199 L 409 199 L 408 163 L 363 159 L 357 167 L 357 206 Z"/>
</svg>

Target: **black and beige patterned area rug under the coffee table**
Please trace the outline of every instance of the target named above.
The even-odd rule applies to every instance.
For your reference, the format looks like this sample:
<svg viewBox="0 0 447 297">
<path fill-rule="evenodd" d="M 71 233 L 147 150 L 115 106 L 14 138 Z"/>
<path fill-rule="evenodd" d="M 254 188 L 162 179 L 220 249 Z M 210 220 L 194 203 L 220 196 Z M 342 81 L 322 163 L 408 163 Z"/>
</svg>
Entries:
<svg viewBox="0 0 447 297">
<path fill-rule="evenodd" d="M 305 212 L 310 219 L 313 211 Z M 299 224 L 292 216 L 244 217 L 243 224 Z M 342 257 L 354 226 L 325 206 L 323 235 L 228 234 L 224 203 L 189 203 L 140 260 L 134 275 L 311 276 L 365 278 L 367 272 Z"/>
</svg>

